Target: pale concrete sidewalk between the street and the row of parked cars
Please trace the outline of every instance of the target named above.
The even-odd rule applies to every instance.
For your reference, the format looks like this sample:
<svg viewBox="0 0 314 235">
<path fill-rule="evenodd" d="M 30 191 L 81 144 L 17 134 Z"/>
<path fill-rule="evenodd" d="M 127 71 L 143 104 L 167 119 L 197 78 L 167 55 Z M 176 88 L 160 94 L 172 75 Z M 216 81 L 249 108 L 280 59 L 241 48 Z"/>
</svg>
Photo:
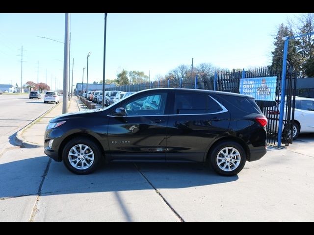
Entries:
<svg viewBox="0 0 314 235">
<path fill-rule="evenodd" d="M 88 108 L 76 96 L 73 96 L 70 102 L 68 101 L 68 113 L 87 109 Z M 17 144 L 25 148 L 43 147 L 46 126 L 52 118 L 61 114 L 62 102 L 55 105 L 52 109 L 20 130 L 16 135 Z"/>
</svg>

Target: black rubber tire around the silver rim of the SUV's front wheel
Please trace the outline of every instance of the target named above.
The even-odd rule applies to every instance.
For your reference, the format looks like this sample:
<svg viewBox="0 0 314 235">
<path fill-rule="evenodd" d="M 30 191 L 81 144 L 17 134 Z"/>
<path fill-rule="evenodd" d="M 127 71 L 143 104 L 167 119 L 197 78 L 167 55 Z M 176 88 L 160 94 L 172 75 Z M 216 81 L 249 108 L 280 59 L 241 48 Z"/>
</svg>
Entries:
<svg viewBox="0 0 314 235">
<path fill-rule="evenodd" d="M 76 145 L 78 144 L 83 144 L 85 146 L 88 146 L 89 149 L 93 152 L 94 154 L 94 159 L 93 161 L 91 162 L 89 159 L 87 158 L 81 158 L 81 157 L 78 157 L 77 156 L 77 159 L 80 158 L 80 160 L 76 161 L 74 160 L 75 158 L 75 155 L 71 155 L 70 158 L 72 158 L 74 161 L 72 162 L 73 164 L 77 164 L 77 168 L 75 166 L 73 166 L 71 163 L 70 163 L 70 160 L 69 160 L 69 153 L 70 153 L 70 150 L 75 147 Z M 88 151 L 89 152 L 89 151 Z M 86 155 L 88 155 L 88 152 Z M 91 152 L 89 152 L 91 153 Z M 89 154 L 89 156 L 92 156 Z M 72 140 L 70 140 L 68 143 L 66 143 L 66 145 L 64 146 L 63 148 L 63 151 L 62 151 L 62 160 L 63 160 L 63 163 L 64 165 L 73 173 L 75 174 L 78 174 L 78 175 L 85 175 L 85 174 L 90 174 L 92 173 L 93 171 L 95 171 L 97 169 L 97 167 L 99 166 L 100 162 L 101 162 L 101 158 L 102 158 L 102 152 L 101 152 L 101 149 L 100 147 L 94 142 L 94 141 L 91 141 L 89 140 L 88 138 L 86 137 L 77 137 L 77 138 L 74 138 Z M 84 167 L 85 165 L 87 166 L 86 163 L 91 163 L 91 165 L 88 167 L 88 168 L 85 168 L 85 169 L 79 169 L 80 167 Z"/>
</svg>

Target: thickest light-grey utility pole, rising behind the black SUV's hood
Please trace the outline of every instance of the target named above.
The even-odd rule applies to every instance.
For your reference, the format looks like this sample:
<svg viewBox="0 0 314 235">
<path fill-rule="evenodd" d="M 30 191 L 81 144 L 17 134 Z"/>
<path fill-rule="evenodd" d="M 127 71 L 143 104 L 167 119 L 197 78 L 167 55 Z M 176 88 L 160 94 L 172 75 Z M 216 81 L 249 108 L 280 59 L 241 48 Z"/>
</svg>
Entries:
<svg viewBox="0 0 314 235">
<path fill-rule="evenodd" d="M 65 29 L 64 29 L 64 58 L 63 58 L 63 106 L 62 114 L 68 112 L 67 86 L 68 86 L 68 70 L 69 70 L 69 13 L 65 13 Z"/>
</svg>

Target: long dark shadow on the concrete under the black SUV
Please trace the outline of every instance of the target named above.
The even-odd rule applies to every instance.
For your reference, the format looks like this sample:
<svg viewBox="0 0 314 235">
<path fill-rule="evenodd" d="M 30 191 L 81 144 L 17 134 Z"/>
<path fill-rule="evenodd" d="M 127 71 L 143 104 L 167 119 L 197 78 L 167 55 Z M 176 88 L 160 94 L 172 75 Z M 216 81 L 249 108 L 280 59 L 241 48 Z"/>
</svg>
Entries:
<svg viewBox="0 0 314 235">
<path fill-rule="evenodd" d="M 188 188 L 236 181 L 203 164 L 110 163 L 89 175 L 76 175 L 47 156 L 0 164 L 0 198 L 25 195 L 109 192 L 154 188 Z M 43 183 L 42 183 L 43 182 Z M 42 184 L 42 188 L 40 185 Z M 153 187 L 152 187 L 153 186 Z"/>
</svg>

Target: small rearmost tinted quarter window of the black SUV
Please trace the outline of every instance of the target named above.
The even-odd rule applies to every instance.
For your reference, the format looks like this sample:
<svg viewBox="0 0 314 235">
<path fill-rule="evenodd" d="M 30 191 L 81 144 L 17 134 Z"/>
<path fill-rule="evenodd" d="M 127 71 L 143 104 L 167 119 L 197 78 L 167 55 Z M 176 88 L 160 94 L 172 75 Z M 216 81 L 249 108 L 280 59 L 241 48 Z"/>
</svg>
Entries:
<svg viewBox="0 0 314 235">
<path fill-rule="evenodd" d="M 223 95 L 224 98 L 238 109 L 247 113 L 262 114 L 259 106 L 255 102 L 254 98 L 247 98 L 241 96 Z"/>
</svg>

